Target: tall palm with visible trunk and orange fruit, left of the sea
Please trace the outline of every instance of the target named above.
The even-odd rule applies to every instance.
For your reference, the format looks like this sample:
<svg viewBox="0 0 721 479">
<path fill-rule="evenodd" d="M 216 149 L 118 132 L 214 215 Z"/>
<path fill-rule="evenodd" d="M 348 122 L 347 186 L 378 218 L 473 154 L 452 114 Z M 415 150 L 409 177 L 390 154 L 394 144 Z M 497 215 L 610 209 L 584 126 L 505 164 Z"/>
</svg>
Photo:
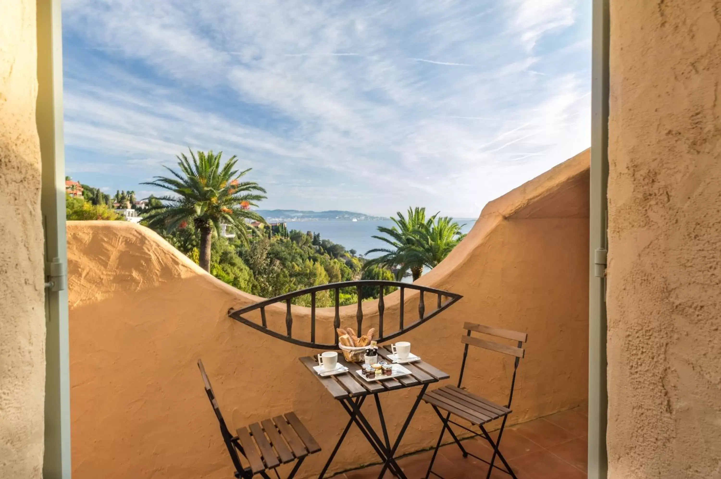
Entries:
<svg viewBox="0 0 721 479">
<path fill-rule="evenodd" d="M 241 206 L 257 206 L 255 202 L 264 200 L 265 189 L 256 182 L 239 182 L 251 169 L 234 169 L 238 159 L 231 156 L 221 165 L 221 155 L 208 151 L 198 151 L 195 156 L 190 151 L 190 160 L 185 154 L 177 156 L 180 171 L 165 167 L 173 177 L 154 176 L 154 187 L 167 189 L 174 193 L 158 197 L 162 205 L 150 205 L 144 215 L 151 228 L 172 231 L 183 223 L 193 220 L 200 231 L 200 258 L 198 263 L 205 271 L 211 267 L 211 236 L 213 229 L 220 235 L 221 223 L 231 225 L 239 233 L 239 238 L 248 243 L 246 219 L 265 223 L 265 219 L 256 212 Z M 267 223 L 265 223 L 267 224 Z"/>
</svg>

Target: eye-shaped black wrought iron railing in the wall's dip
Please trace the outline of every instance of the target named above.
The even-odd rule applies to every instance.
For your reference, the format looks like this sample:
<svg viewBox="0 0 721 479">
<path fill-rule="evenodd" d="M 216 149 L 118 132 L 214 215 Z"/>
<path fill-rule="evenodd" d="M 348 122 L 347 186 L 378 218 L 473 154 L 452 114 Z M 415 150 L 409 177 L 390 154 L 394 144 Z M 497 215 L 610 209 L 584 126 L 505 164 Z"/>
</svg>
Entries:
<svg viewBox="0 0 721 479">
<path fill-rule="evenodd" d="M 420 286 L 415 285 L 413 283 L 404 283 L 404 282 L 397 282 L 397 281 L 376 281 L 376 280 L 361 280 L 361 281 L 348 281 L 348 282 L 340 282 L 340 283 L 330 283 L 328 285 L 320 285 L 320 286 L 314 286 L 306 288 L 305 290 L 298 290 L 294 292 L 288 292 L 285 295 L 280 295 L 276 297 L 271 297 L 268 300 L 262 300 L 258 303 L 254 303 L 252 305 L 245 306 L 244 308 L 239 309 L 233 309 L 231 308 L 228 311 L 228 315 L 235 319 L 236 321 L 240 321 L 241 323 L 246 324 L 247 326 L 250 326 L 251 328 L 255 328 L 258 331 L 262 331 L 263 333 L 269 334 L 270 336 L 273 336 L 278 339 L 282 339 L 283 341 L 288 341 L 289 343 L 293 344 L 299 344 L 301 346 L 307 346 L 311 348 L 318 348 L 318 349 L 339 349 L 338 347 L 338 333 L 337 328 L 340 328 L 340 290 L 345 290 L 346 288 L 355 288 L 357 294 L 358 294 L 358 309 L 355 312 L 355 321 L 356 326 L 358 327 L 358 336 L 361 336 L 361 331 L 363 331 L 363 297 L 362 297 L 362 290 L 363 287 L 378 287 L 379 288 L 379 297 L 378 297 L 378 337 L 376 341 L 379 341 L 379 343 L 384 341 L 389 341 L 391 339 L 397 338 L 403 333 L 406 333 L 407 331 L 412 330 L 413 328 L 416 328 L 417 326 L 420 326 L 421 324 L 425 323 L 425 321 L 428 321 L 430 318 L 433 318 L 435 315 L 438 315 L 438 313 L 441 313 L 441 311 L 446 310 L 448 307 L 456 303 L 456 301 L 461 299 L 461 295 L 457 295 L 454 292 L 444 291 L 444 290 L 437 290 L 432 287 L 427 286 Z M 385 300 L 384 300 L 384 290 L 388 287 L 396 287 L 400 290 L 400 298 L 399 298 L 399 318 L 398 318 L 398 326 L 399 328 L 396 331 L 393 331 L 392 333 L 386 334 L 386 331 L 384 330 L 384 315 L 385 315 Z M 323 343 L 317 343 L 316 342 L 316 299 L 317 294 L 322 291 L 328 291 L 332 290 L 334 293 L 334 306 L 332 308 L 335 308 L 335 316 L 333 319 L 333 335 L 334 335 L 334 343 L 333 344 L 323 344 Z M 405 318 L 405 300 L 406 290 L 417 290 L 419 291 L 418 296 L 418 309 L 417 309 L 417 315 L 413 315 L 410 318 L 410 322 L 406 321 Z M 291 305 L 293 299 L 296 297 L 301 297 L 304 295 L 310 295 L 310 313 L 311 313 L 311 319 L 310 319 L 310 341 L 305 341 L 304 339 L 300 339 L 298 337 L 293 337 L 293 314 L 291 310 Z M 431 295 L 435 296 L 435 309 L 426 311 L 426 296 Z M 269 328 L 267 325 L 267 318 L 265 314 L 265 308 L 269 305 L 273 305 L 275 303 L 286 303 L 286 333 L 280 333 L 278 331 L 273 330 L 272 328 Z M 260 323 L 257 321 L 252 321 L 249 318 L 244 317 L 243 315 L 247 315 L 247 313 L 250 313 L 251 311 L 260 310 Z"/>
</svg>

